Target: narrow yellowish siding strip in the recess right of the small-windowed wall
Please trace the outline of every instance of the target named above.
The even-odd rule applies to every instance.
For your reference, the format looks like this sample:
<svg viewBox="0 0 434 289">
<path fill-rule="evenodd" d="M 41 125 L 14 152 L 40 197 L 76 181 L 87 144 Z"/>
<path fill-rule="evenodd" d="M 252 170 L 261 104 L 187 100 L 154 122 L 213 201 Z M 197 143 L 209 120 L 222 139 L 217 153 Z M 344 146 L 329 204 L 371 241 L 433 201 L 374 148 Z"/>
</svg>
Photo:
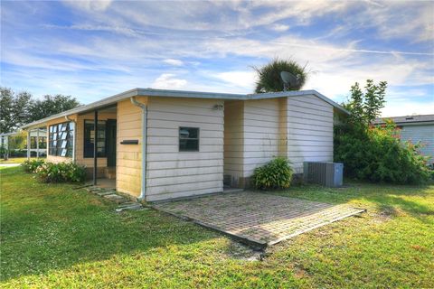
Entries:
<svg viewBox="0 0 434 289">
<path fill-rule="evenodd" d="M 224 174 L 231 176 L 232 186 L 239 185 L 243 174 L 244 102 L 224 103 Z"/>
</svg>

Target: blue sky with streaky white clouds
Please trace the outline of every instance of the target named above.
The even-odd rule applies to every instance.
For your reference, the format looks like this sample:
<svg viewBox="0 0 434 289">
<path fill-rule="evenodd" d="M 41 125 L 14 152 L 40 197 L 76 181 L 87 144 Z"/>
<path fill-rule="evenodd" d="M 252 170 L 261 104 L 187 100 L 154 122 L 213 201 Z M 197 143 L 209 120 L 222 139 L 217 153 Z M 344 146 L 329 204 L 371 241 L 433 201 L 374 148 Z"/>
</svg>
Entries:
<svg viewBox="0 0 434 289">
<path fill-rule="evenodd" d="M 338 103 L 386 80 L 382 117 L 434 114 L 434 1 L 1 1 L 1 85 L 37 98 L 252 93 L 277 57 Z"/>
</svg>

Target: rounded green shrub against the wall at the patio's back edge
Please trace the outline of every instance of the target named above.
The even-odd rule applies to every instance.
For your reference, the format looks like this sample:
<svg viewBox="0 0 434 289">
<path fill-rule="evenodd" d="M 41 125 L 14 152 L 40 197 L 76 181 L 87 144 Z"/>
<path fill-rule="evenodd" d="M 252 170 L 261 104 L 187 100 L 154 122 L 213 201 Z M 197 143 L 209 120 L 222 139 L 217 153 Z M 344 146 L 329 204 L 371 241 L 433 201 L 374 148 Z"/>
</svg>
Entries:
<svg viewBox="0 0 434 289">
<path fill-rule="evenodd" d="M 291 184 L 292 174 L 288 160 L 278 157 L 255 169 L 252 175 L 253 186 L 259 190 L 286 189 Z"/>
</svg>

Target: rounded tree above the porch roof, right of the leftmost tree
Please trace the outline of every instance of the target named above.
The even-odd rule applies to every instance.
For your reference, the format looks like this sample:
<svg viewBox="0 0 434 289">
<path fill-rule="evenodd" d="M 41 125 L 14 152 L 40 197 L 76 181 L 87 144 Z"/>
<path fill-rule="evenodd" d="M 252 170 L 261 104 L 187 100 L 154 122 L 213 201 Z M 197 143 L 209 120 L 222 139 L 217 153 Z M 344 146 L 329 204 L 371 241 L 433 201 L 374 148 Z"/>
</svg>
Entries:
<svg viewBox="0 0 434 289">
<path fill-rule="evenodd" d="M 31 121 L 50 117 L 79 106 L 80 102 L 71 96 L 63 96 L 61 94 L 55 96 L 45 95 L 43 99 L 33 101 L 33 104 L 29 107 L 32 116 Z"/>
</svg>

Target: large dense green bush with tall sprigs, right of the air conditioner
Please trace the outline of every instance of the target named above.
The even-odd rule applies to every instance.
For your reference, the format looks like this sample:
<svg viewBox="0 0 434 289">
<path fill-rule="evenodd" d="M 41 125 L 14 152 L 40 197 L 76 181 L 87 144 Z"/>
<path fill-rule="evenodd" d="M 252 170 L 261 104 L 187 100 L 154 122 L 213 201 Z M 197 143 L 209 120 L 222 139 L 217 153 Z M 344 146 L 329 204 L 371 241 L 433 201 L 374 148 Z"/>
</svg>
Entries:
<svg viewBox="0 0 434 289">
<path fill-rule="evenodd" d="M 344 163 L 347 176 L 371 182 L 421 183 L 432 174 L 420 144 L 402 142 L 398 127 L 372 126 L 384 104 L 387 83 L 367 80 L 365 90 L 356 83 L 344 107 L 351 113 L 335 127 L 335 162 Z"/>
</svg>

